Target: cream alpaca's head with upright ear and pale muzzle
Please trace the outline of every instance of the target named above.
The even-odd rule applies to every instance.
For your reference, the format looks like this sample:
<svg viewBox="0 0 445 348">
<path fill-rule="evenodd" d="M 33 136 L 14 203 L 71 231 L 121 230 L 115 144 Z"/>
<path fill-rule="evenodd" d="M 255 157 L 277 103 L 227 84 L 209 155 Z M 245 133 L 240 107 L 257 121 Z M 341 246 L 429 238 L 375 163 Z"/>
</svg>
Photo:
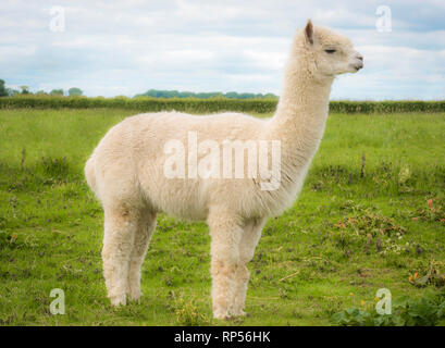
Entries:
<svg viewBox="0 0 445 348">
<path fill-rule="evenodd" d="M 293 52 L 298 60 L 304 59 L 310 74 L 317 79 L 356 73 L 363 67 L 363 57 L 354 49 L 347 37 L 325 27 L 314 27 L 311 21 L 296 36 Z"/>
</svg>

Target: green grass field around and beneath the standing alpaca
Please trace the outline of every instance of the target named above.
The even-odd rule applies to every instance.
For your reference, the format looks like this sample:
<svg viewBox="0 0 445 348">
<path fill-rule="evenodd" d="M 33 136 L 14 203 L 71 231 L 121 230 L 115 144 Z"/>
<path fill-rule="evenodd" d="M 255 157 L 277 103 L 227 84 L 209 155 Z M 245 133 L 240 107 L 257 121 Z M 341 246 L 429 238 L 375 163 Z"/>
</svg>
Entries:
<svg viewBox="0 0 445 348">
<path fill-rule="evenodd" d="M 0 325 L 329 325 L 372 307 L 379 288 L 397 301 L 444 285 L 445 113 L 332 114 L 297 202 L 269 221 L 249 265 L 251 316 L 211 318 L 207 226 L 166 216 L 140 303 L 113 309 L 103 214 L 83 166 L 132 114 L 0 111 Z M 65 293 L 64 315 L 49 311 L 52 288 Z"/>
</svg>

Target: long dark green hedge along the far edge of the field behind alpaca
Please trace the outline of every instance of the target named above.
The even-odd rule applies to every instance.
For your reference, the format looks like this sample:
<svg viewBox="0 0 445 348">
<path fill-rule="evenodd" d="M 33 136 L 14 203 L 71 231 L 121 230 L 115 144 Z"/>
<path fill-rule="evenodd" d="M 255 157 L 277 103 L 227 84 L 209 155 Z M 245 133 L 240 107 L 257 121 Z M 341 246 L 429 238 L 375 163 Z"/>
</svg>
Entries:
<svg viewBox="0 0 445 348">
<path fill-rule="evenodd" d="M 0 109 L 122 108 L 147 112 L 176 110 L 195 113 L 218 111 L 270 113 L 275 110 L 276 102 L 276 99 L 16 96 L 0 98 Z M 445 112 L 445 100 L 331 101 L 330 111 L 339 113 Z"/>
</svg>

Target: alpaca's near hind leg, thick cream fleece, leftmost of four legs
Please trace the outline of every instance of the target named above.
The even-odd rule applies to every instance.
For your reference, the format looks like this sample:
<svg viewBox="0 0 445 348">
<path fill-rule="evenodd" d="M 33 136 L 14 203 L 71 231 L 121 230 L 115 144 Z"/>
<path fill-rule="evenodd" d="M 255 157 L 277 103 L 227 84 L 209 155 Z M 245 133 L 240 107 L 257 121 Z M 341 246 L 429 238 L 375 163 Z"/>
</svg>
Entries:
<svg viewBox="0 0 445 348">
<path fill-rule="evenodd" d="M 128 262 L 138 216 L 125 207 L 106 208 L 104 216 L 102 261 L 108 297 L 113 306 L 126 304 Z"/>
</svg>

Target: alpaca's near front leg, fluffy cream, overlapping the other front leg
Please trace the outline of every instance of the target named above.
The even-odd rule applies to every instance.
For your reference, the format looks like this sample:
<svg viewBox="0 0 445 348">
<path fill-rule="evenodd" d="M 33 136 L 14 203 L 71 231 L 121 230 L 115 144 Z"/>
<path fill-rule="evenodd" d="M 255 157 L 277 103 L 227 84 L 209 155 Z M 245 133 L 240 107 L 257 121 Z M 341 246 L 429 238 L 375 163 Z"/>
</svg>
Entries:
<svg viewBox="0 0 445 348">
<path fill-rule="evenodd" d="M 213 316 L 228 318 L 232 284 L 238 264 L 238 245 L 242 227 L 230 214 L 211 214 L 208 217 L 211 235 L 211 275 Z"/>
</svg>

